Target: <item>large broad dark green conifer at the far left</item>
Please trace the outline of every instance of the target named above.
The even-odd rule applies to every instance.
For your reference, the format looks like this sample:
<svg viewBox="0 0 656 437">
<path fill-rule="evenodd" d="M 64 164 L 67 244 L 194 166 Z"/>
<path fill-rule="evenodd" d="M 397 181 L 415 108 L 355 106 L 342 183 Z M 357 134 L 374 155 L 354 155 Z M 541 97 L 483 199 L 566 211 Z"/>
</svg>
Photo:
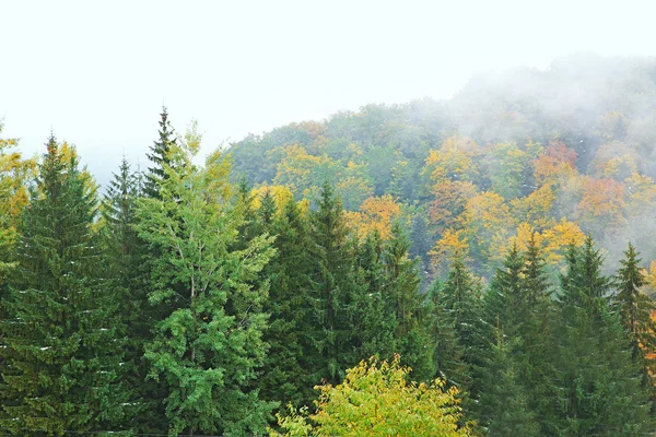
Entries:
<svg viewBox="0 0 656 437">
<path fill-rule="evenodd" d="M 54 137 L 25 210 L 0 324 L 1 427 L 13 435 L 119 430 L 120 320 L 101 280 L 93 185 Z"/>
</svg>

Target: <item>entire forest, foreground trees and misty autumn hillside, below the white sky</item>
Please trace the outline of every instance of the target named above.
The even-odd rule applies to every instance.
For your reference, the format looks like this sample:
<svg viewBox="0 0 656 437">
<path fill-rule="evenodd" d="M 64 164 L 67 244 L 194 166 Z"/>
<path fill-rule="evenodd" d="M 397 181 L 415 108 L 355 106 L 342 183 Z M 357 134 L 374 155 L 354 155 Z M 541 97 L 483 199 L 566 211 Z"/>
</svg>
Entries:
<svg viewBox="0 0 656 437">
<path fill-rule="evenodd" d="M 0 139 L 0 435 L 656 430 L 655 61 L 153 133 Z"/>
</svg>

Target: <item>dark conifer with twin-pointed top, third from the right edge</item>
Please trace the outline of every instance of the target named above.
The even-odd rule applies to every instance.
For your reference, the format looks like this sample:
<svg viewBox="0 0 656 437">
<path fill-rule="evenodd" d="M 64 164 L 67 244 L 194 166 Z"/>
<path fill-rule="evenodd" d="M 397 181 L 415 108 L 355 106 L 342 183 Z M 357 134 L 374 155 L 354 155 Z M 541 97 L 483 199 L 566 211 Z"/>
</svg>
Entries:
<svg viewBox="0 0 656 437">
<path fill-rule="evenodd" d="M 542 403 L 548 402 L 552 375 L 547 359 L 551 311 L 543 264 L 535 235 L 526 253 L 513 246 L 484 298 L 482 332 L 490 340 L 482 355 L 478 410 L 491 435 L 541 432 L 535 425 Z M 502 411 L 504 403 L 507 412 Z"/>
</svg>

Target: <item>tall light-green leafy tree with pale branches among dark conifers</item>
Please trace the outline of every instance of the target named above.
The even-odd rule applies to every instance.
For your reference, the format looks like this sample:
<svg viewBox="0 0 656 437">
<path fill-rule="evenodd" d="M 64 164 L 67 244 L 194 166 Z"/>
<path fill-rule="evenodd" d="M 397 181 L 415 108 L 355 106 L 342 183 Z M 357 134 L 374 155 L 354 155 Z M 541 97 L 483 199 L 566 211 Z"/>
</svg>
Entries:
<svg viewBox="0 0 656 437">
<path fill-rule="evenodd" d="M 145 347 L 149 377 L 166 387 L 171 436 L 260 433 L 273 406 L 254 389 L 267 290 L 251 284 L 273 255 L 271 239 L 232 249 L 243 217 L 230 203 L 230 167 L 215 153 L 196 168 L 197 151 L 172 149 L 178 165 L 165 165 L 160 197 L 139 201 L 139 235 L 161 250 L 150 300 L 169 305 Z"/>
</svg>

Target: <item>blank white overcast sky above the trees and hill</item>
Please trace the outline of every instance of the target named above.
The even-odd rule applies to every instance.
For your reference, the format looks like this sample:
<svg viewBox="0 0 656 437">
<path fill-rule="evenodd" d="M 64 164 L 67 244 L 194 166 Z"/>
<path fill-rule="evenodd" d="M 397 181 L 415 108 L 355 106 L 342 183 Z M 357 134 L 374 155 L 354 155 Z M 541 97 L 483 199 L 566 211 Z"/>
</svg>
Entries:
<svg viewBox="0 0 656 437">
<path fill-rule="evenodd" d="M 162 105 L 203 153 L 370 103 L 448 98 L 475 73 L 656 55 L 643 1 L 0 0 L 2 135 L 50 131 L 105 184 L 147 166 Z"/>
</svg>

